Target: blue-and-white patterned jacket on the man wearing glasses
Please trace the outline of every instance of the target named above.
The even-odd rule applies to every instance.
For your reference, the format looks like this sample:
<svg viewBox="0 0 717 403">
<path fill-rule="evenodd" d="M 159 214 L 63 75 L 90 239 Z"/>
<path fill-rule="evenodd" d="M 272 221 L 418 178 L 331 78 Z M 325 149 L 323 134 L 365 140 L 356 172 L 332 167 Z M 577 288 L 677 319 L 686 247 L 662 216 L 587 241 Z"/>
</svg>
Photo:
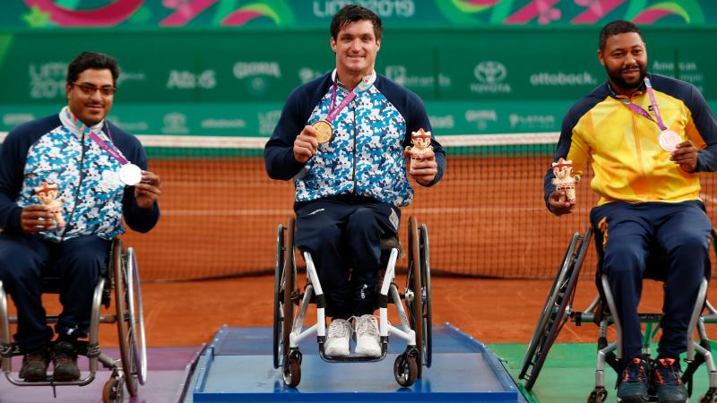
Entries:
<svg viewBox="0 0 717 403">
<path fill-rule="evenodd" d="M 57 184 L 66 223 L 64 228 L 39 233 L 44 239 L 62 242 L 89 235 L 113 239 L 125 232 L 123 215 L 135 231 L 154 227 L 160 218 L 157 203 L 139 208 L 134 187 L 119 182 L 119 162 L 61 116 L 22 124 L 0 146 L 0 229 L 7 234 L 22 232 L 22 208 L 41 204 L 33 188 L 42 182 Z M 125 159 L 147 169 L 142 144 L 133 135 L 107 121 L 93 129 Z"/>
</svg>

